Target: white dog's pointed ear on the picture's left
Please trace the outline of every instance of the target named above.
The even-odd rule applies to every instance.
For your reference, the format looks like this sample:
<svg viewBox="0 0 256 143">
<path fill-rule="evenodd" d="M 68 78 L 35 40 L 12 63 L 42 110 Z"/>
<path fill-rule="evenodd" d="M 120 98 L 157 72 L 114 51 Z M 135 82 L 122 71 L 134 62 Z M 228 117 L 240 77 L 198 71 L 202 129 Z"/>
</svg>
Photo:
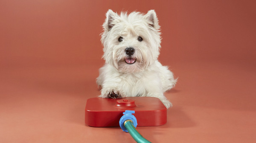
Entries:
<svg viewBox="0 0 256 143">
<path fill-rule="evenodd" d="M 113 21 L 119 17 L 118 14 L 114 13 L 111 9 L 108 10 L 106 13 L 106 20 L 103 24 L 103 28 L 105 31 L 110 31 L 111 28 L 114 26 Z"/>
</svg>

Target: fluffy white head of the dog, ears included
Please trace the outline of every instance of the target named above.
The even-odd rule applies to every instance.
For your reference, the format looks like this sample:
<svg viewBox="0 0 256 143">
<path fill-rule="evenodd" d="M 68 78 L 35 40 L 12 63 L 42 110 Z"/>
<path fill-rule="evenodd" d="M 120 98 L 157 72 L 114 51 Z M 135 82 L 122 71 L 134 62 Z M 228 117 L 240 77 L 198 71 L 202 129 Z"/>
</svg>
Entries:
<svg viewBox="0 0 256 143">
<path fill-rule="evenodd" d="M 103 24 L 102 44 L 106 63 L 122 73 L 142 71 L 157 60 L 160 26 L 154 10 L 143 15 L 109 10 Z"/>
</svg>

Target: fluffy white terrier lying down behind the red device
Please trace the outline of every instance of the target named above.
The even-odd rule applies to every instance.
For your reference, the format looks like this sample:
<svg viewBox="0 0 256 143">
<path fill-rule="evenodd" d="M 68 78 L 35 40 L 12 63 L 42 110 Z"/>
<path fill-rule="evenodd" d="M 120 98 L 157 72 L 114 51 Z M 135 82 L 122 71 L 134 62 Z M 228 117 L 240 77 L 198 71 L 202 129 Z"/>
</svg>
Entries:
<svg viewBox="0 0 256 143">
<path fill-rule="evenodd" d="M 175 86 L 176 79 L 157 60 L 161 37 L 155 11 L 118 15 L 108 10 L 103 28 L 105 65 L 97 78 L 99 97 L 157 97 L 167 108 L 172 106 L 163 93 Z"/>
</svg>

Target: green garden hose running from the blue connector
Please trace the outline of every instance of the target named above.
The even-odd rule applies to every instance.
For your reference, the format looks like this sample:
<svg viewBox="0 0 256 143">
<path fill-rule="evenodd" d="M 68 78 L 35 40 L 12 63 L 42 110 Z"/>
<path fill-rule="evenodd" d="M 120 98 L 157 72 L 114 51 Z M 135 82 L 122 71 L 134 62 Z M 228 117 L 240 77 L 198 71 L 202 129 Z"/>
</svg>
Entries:
<svg viewBox="0 0 256 143">
<path fill-rule="evenodd" d="M 134 140 L 137 143 L 151 143 L 148 140 L 146 140 L 142 135 L 140 135 L 140 133 L 135 129 L 131 120 L 126 120 L 124 125 L 127 131 L 130 133 L 130 135 L 134 138 Z"/>
</svg>

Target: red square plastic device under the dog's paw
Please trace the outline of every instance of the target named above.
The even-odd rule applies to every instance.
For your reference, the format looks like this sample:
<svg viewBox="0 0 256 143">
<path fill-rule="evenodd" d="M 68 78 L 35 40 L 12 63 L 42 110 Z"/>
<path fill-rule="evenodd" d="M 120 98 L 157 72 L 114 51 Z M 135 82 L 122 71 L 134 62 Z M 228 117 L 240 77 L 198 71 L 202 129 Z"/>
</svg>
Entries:
<svg viewBox="0 0 256 143">
<path fill-rule="evenodd" d="M 134 110 L 137 126 L 160 126 L 167 122 L 167 109 L 155 97 L 89 98 L 85 124 L 95 127 L 119 126 L 125 110 Z"/>
</svg>

